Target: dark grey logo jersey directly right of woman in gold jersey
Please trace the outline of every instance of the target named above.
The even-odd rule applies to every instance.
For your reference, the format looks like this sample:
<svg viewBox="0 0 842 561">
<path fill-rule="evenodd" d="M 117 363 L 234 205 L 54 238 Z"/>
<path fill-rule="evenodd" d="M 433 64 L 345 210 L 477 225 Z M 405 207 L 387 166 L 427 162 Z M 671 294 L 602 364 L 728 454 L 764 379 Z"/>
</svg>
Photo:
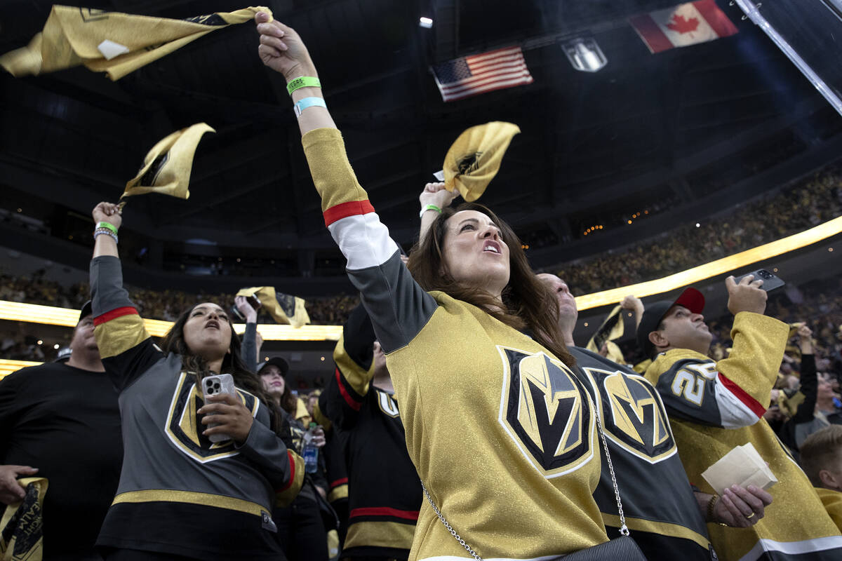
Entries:
<svg viewBox="0 0 842 561">
<path fill-rule="evenodd" d="M 599 407 L 632 537 L 651 560 L 711 559 L 705 518 L 658 390 L 642 375 L 599 354 L 581 347 L 570 352 Z M 620 516 L 605 456 L 594 498 L 609 536 L 618 536 Z"/>
</svg>

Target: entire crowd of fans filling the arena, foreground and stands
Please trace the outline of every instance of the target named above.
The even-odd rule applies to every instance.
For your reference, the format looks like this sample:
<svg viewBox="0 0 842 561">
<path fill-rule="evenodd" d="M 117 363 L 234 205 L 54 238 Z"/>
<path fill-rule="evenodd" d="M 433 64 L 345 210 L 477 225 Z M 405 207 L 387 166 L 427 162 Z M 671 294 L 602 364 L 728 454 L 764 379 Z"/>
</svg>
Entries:
<svg viewBox="0 0 842 561">
<path fill-rule="evenodd" d="M 360 288 L 360 304 L 341 297 L 318 312 L 344 325 L 334 375 L 296 395 L 290 363 L 258 361 L 245 297 L 127 288 L 120 207 L 97 204 L 88 286 L 4 279 L 8 299 L 80 309 L 69 357 L 0 381 L 4 555 L 842 557 L 839 278 L 770 297 L 762 279 L 728 277 L 728 313 L 707 322 L 695 288 L 628 299 L 637 357 L 589 351 L 575 340 L 571 289 L 594 279 L 536 274 L 504 220 L 451 205 L 444 183 L 424 186 L 418 243 L 402 255 L 357 183 L 301 38 L 267 13 L 255 21 Z M 701 246 L 718 241 L 711 251 L 724 255 L 833 217 L 832 177 L 747 207 L 796 207 L 797 218 L 707 232 Z M 623 265 L 616 284 L 664 274 Z M 173 326 L 153 339 L 144 315 Z M 742 459 L 723 465 L 733 454 Z"/>
</svg>

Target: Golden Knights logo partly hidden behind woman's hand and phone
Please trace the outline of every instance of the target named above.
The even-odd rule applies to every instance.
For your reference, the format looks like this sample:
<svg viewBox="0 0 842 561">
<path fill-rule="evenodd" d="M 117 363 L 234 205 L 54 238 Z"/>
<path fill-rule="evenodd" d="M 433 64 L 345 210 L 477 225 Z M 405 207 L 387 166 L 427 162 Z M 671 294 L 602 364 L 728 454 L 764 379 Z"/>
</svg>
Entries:
<svg viewBox="0 0 842 561">
<path fill-rule="evenodd" d="M 237 389 L 237 394 L 243 405 L 252 412 L 252 416 L 257 416 L 260 402 L 242 389 Z M 234 441 L 210 442 L 210 439 L 202 434 L 207 426 L 200 424 L 200 415 L 196 413 L 202 405 L 205 405 L 205 399 L 195 384 L 194 376 L 181 373 L 167 415 L 166 432 L 169 440 L 179 448 L 179 451 L 199 463 L 208 463 L 239 454 Z"/>
</svg>

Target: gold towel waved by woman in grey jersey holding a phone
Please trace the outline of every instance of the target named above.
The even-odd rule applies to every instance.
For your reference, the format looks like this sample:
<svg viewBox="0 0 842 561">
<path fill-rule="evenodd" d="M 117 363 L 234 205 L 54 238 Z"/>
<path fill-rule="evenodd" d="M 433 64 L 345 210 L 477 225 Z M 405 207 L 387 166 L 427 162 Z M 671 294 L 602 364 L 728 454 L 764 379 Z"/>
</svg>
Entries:
<svg viewBox="0 0 842 561">
<path fill-rule="evenodd" d="M 189 198 L 190 172 L 199 140 L 206 132 L 216 132 L 205 123 L 194 124 L 158 141 L 137 175 L 125 184 L 122 197 L 143 193 L 161 193 L 178 198 Z"/>
</svg>

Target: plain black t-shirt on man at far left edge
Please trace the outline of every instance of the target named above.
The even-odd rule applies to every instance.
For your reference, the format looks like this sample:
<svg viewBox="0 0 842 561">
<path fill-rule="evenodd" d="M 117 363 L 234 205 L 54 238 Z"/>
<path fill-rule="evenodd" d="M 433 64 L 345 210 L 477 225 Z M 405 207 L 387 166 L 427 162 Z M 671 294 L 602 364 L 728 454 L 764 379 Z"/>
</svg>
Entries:
<svg viewBox="0 0 842 561">
<path fill-rule="evenodd" d="M 93 550 L 122 458 L 117 392 L 104 372 L 46 363 L 0 381 L 0 463 L 49 480 L 45 559 Z"/>
</svg>

